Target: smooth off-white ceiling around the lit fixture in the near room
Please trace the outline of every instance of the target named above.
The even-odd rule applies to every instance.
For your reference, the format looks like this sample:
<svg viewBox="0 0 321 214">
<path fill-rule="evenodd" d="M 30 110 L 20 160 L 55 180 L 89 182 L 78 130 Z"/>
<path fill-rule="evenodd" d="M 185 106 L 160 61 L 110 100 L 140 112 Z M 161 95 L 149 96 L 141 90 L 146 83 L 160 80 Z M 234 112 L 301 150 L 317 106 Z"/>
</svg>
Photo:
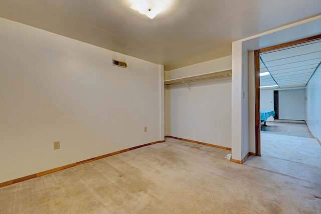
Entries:
<svg viewBox="0 0 321 214">
<path fill-rule="evenodd" d="M 234 41 L 321 14 L 321 0 L 173 0 L 150 20 L 129 9 L 131 1 L 1 0 L 0 17 L 172 70 L 231 55 Z"/>
</svg>

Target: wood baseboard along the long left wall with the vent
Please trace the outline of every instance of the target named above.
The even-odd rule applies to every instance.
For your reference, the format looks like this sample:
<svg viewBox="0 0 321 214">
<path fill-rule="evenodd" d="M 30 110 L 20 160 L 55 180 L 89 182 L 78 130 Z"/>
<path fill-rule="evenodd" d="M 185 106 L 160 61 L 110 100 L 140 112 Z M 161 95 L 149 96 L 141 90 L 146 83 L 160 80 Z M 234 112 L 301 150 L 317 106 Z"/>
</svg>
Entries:
<svg viewBox="0 0 321 214">
<path fill-rule="evenodd" d="M 13 179 L 13 180 L 5 181 L 5 182 L 0 183 L 0 188 L 4 187 L 4 186 L 11 185 L 11 184 L 14 184 L 14 183 L 19 183 L 21 181 L 29 180 L 29 179 L 32 179 L 32 178 L 41 177 L 43 175 L 50 174 L 50 173 L 53 173 L 53 172 L 61 171 L 61 170 L 64 170 L 64 169 L 68 169 L 68 168 L 71 168 L 71 167 L 74 167 L 74 166 L 78 166 L 78 165 L 81 165 L 81 164 L 84 164 L 84 163 L 89 163 L 89 162 L 92 162 L 92 161 L 95 161 L 95 160 L 99 160 L 99 159 L 102 159 L 102 158 L 105 158 L 105 157 L 109 157 L 109 156 L 113 156 L 113 155 L 116 155 L 116 154 L 120 154 L 120 153 L 123 153 L 123 152 L 126 152 L 126 151 L 130 151 L 130 150 L 133 150 L 133 149 L 137 149 L 137 148 L 141 148 L 141 147 L 144 147 L 144 146 L 153 145 L 153 144 L 156 144 L 156 143 L 163 143 L 163 142 L 165 142 L 165 140 L 159 140 L 159 141 L 155 141 L 155 142 L 151 142 L 151 143 L 146 143 L 146 144 L 139 145 L 139 146 L 134 146 L 134 147 L 131 147 L 131 148 L 128 148 L 128 149 L 115 151 L 115 152 L 112 152 L 112 153 L 109 153 L 109 154 L 104 154 L 104 155 L 101 155 L 101 156 L 98 156 L 98 157 L 93 157 L 93 158 L 90 158 L 90 159 L 87 159 L 87 160 L 82 160 L 82 161 L 79 161 L 79 162 L 76 162 L 76 163 L 71 163 L 71 164 L 68 164 L 68 165 L 65 165 L 65 166 L 60 166 L 60 167 L 57 167 L 57 168 L 54 168 L 54 169 L 49 169 L 49 170 L 46 170 L 46 171 L 43 171 L 43 172 L 38 172 L 36 174 L 27 175 L 25 177 L 20 177 L 20 178 L 16 178 L 16 179 Z"/>
</svg>

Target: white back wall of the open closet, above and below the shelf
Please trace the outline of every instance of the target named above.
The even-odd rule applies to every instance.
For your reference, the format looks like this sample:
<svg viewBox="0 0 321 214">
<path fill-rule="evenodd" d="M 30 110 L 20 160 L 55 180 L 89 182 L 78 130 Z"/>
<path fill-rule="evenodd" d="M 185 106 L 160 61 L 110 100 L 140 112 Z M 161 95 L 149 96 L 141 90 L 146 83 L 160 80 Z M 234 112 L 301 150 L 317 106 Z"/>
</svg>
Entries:
<svg viewBox="0 0 321 214">
<path fill-rule="evenodd" d="M 224 62 L 221 65 L 219 62 Z M 195 67 L 168 71 L 171 77 L 177 73 L 191 76 L 202 70 L 214 72 L 230 69 L 231 61 L 218 59 Z M 206 67 L 206 68 L 205 68 Z M 202 69 L 200 69 L 202 68 Z M 194 71 L 193 71 L 194 70 Z M 172 74 L 174 73 L 174 74 Z M 178 78 L 178 76 L 175 76 Z M 195 140 L 231 148 L 231 81 L 193 84 L 191 92 L 186 86 L 165 90 L 166 135 Z"/>
</svg>

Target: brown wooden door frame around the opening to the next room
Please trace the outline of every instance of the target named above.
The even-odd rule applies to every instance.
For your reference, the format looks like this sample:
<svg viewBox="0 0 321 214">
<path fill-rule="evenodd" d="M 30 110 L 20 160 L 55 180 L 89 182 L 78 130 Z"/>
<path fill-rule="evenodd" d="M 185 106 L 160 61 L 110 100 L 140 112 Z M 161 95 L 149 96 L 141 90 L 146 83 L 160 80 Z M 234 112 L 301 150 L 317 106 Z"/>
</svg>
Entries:
<svg viewBox="0 0 321 214">
<path fill-rule="evenodd" d="M 255 155 L 261 156 L 261 118 L 260 118 L 260 53 L 273 51 L 280 48 L 285 48 L 300 43 L 310 42 L 321 39 L 321 34 L 313 37 L 308 37 L 300 40 L 295 40 L 280 45 L 275 45 L 267 48 L 262 48 L 254 51 L 254 75 L 255 75 Z"/>
</svg>

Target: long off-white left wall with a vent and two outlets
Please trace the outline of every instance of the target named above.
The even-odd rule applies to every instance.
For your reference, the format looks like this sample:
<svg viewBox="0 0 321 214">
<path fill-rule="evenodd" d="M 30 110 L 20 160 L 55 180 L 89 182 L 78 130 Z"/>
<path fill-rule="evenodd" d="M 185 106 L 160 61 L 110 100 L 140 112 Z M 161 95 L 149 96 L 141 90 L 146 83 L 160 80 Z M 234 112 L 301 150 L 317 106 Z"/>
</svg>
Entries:
<svg viewBox="0 0 321 214">
<path fill-rule="evenodd" d="M 0 182 L 162 140 L 163 66 L 5 19 L 0 28 Z"/>
</svg>

